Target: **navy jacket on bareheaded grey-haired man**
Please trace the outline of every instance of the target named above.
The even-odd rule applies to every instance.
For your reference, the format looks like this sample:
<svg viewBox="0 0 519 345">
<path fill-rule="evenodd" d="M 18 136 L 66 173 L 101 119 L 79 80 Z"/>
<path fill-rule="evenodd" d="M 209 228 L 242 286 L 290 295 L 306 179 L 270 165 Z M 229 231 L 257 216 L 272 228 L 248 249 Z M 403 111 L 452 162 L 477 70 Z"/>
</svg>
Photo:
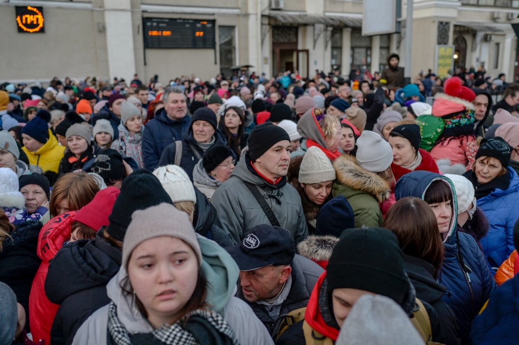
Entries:
<svg viewBox="0 0 519 345">
<path fill-rule="evenodd" d="M 146 123 L 146 130 L 142 135 L 144 168 L 152 171 L 157 168 L 162 151 L 176 140 L 182 140 L 190 123 L 191 117 L 188 115 L 180 120 L 172 120 L 166 114 L 166 109 L 160 109 L 155 118 Z"/>
</svg>

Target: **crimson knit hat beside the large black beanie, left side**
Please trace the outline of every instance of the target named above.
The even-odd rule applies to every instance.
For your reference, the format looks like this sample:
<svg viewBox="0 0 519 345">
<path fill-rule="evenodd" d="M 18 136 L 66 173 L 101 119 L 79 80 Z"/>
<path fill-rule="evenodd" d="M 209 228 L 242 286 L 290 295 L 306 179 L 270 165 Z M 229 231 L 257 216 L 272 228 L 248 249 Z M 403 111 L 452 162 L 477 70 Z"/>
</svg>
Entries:
<svg viewBox="0 0 519 345">
<path fill-rule="evenodd" d="M 97 192 L 88 204 L 83 206 L 74 217 L 79 223 L 83 223 L 94 230 L 110 224 L 108 216 L 112 213 L 114 203 L 120 190 L 115 187 L 107 187 Z"/>
</svg>

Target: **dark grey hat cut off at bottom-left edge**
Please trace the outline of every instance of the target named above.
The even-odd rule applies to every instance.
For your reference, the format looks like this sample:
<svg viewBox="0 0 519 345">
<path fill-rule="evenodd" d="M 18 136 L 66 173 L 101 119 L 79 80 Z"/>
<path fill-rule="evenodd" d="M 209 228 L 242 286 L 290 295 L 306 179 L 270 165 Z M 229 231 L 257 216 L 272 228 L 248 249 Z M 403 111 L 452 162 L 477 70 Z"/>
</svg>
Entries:
<svg viewBox="0 0 519 345">
<path fill-rule="evenodd" d="M 0 344 L 11 344 L 18 326 L 16 295 L 6 283 L 0 282 Z"/>
</svg>

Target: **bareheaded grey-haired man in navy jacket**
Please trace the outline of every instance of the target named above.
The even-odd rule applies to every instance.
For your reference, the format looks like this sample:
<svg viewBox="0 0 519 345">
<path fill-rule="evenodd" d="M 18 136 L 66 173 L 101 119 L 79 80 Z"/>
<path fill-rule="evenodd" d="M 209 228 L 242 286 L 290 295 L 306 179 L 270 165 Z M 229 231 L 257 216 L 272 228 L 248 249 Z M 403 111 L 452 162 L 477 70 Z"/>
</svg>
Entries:
<svg viewBox="0 0 519 345">
<path fill-rule="evenodd" d="M 186 96 L 178 86 L 168 86 L 163 94 L 164 107 L 146 123 L 142 136 L 144 167 L 154 170 L 162 151 L 171 143 L 182 140 L 190 125 Z"/>
</svg>

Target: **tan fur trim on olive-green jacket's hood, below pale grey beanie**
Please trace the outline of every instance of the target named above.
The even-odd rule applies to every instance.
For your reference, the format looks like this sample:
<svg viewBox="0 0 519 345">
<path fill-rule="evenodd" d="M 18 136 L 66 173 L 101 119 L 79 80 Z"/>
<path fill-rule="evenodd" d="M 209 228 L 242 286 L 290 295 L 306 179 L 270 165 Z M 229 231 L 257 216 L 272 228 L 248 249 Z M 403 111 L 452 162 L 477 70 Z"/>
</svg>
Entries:
<svg viewBox="0 0 519 345">
<path fill-rule="evenodd" d="M 378 202 L 389 200 L 391 187 L 376 173 L 367 171 L 357 164 L 357 158 L 342 155 L 333 162 L 337 181 L 356 190 L 362 190 L 377 198 Z"/>
</svg>

